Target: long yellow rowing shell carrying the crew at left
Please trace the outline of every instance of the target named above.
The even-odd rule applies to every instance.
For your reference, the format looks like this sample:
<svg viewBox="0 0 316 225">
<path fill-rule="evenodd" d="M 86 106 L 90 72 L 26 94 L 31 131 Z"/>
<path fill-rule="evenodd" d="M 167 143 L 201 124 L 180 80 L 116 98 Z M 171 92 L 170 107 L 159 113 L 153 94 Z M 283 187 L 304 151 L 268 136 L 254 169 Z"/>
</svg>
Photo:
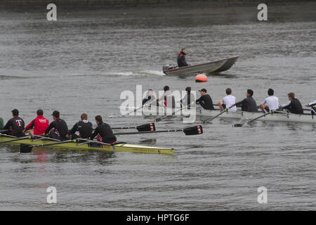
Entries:
<svg viewBox="0 0 316 225">
<path fill-rule="evenodd" d="M 10 137 L 4 137 L 0 136 L 0 141 L 9 141 L 13 140 L 13 138 Z M 44 140 L 30 140 L 30 139 L 24 139 L 19 141 L 12 141 L 4 144 L 14 144 L 19 145 L 21 143 L 27 144 L 27 145 L 41 145 L 46 143 L 54 143 L 56 141 L 44 141 Z M 172 154 L 174 153 L 175 149 L 173 148 L 159 148 L 159 147 L 152 147 L 152 146 L 138 146 L 138 145 L 131 145 L 127 143 L 117 143 L 112 146 L 108 145 L 102 145 L 100 148 L 98 147 L 90 147 L 87 143 L 81 144 L 80 146 L 78 143 L 60 143 L 56 145 L 47 146 L 48 148 L 67 148 L 67 149 L 75 149 L 75 150 L 101 150 L 101 151 L 107 151 L 107 152 L 133 152 L 133 153 L 154 153 L 154 154 Z"/>
</svg>

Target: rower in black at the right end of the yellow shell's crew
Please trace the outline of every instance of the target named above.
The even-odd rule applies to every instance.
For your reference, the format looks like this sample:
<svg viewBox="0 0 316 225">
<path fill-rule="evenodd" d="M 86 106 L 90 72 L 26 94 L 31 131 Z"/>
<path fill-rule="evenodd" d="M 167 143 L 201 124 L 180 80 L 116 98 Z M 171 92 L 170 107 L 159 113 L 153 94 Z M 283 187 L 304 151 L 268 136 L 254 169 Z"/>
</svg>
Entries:
<svg viewBox="0 0 316 225">
<path fill-rule="evenodd" d="M 117 137 L 114 136 L 110 125 L 103 122 L 100 115 L 96 116 L 96 124 L 98 124 L 98 126 L 96 127 L 94 133 L 91 135 L 91 140 L 96 137 L 97 141 L 110 144 L 113 144 L 115 143 L 115 141 L 117 141 Z"/>
</svg>

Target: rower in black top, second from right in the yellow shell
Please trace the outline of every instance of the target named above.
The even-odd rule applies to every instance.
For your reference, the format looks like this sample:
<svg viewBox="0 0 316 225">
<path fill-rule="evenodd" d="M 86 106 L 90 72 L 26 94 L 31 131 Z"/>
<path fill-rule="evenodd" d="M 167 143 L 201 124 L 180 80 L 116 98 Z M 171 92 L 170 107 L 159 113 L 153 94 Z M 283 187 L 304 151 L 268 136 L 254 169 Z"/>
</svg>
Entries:
<svg viewBox="0 0 316 225">
<path fill-rule="evenodd" d="M 79 132 L 77 135 L 76 132 Z M 74 124 L 74 127 L 69 131 L 69 135 L 72 139 L 88 139 L 92 134 L 92 123 L 88 122 L 88 115 L 86 113 L 81 114 L 81 120 Z"/>
</svg>

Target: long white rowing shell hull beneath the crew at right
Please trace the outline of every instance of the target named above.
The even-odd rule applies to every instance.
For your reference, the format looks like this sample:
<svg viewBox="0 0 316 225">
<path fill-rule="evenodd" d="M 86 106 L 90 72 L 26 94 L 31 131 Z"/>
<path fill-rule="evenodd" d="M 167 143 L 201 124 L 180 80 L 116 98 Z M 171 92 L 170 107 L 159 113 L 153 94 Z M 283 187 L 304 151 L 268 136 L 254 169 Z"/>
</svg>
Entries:
<svg viewBox="0 0 316 225">
<path fill-rule="evenodd" d="M 169 109 L 170 110 L 170 109 Z M 151 107 L 151 108 L 143 108 L 143 115 L 145 116 L 157 116 L 162 117 L 166 115 L 171 115 L 172 112 L 176 112 L 179 108 L 175 108 L 173 111 L 166 111 L 166 108 L 163 107 Z M 185 115 L 188 116 L 188 113 L 196 113 L 197 117 L 215 117 L 220 113 L 220 110 L 203 110 L 196 109 L 195 111 L 187 111 Z M 176 115 L 181 115 L 180 112 L 176 113 Z M 244 111 L 237 112 L 226 112 L 220 115 L 221 118 L 231 118 L 231 119 L 239 119 L 239 120 L 252 120 L 256 117 L 263 115 L 263 113 L 250 113 Z M 265 117 L 261 117 L 261 121 L 275 121 L 275 122 L 303 122 L 303 123 L 316 123 L 316 117 L 310 114 L 291 114 L 291 113 L 273 113 L 271 115 L 266 115 Z"/>
</svg>

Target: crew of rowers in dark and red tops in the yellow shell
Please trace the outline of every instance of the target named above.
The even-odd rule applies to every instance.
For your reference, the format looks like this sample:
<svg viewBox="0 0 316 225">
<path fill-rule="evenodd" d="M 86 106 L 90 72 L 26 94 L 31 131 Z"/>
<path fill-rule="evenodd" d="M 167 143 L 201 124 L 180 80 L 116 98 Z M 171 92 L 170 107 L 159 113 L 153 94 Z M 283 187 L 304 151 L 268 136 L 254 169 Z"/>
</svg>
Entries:
<svg viewBox="0 0 316 225">
<path fill-rule="evenodd" d="M 60 119 L 60 113 L 53 111 L 53 122 L 49 124 L 48 120 L 44 117 L 43 110 L 37 110 L 37 117 L 32 120 L 26 127 L 25 122 L 19 117 L 17 109 L 12 110 L 13 118 L 8 120 L 6 125 L 0 127 L 2 134 L 9 134 L 12 136 L 25 136 L 27 131 L 29 135 L 46 135 L 51 139 L 58 139 L 65 141 L 68 139 L 95 139 L 102 143 L 113 144 L 117 141 L 109 124 L 103 122 L 100 115 L 95 117 L 97 127 L 93 132 L 92 123 L 88 122 L 88 115 L 83 113 L 81 120 L 74 124 L 72 129 L 68 130 L 65 120 Z M 1 125 L 1 124 L 0 124 Z"/>
</svg>

